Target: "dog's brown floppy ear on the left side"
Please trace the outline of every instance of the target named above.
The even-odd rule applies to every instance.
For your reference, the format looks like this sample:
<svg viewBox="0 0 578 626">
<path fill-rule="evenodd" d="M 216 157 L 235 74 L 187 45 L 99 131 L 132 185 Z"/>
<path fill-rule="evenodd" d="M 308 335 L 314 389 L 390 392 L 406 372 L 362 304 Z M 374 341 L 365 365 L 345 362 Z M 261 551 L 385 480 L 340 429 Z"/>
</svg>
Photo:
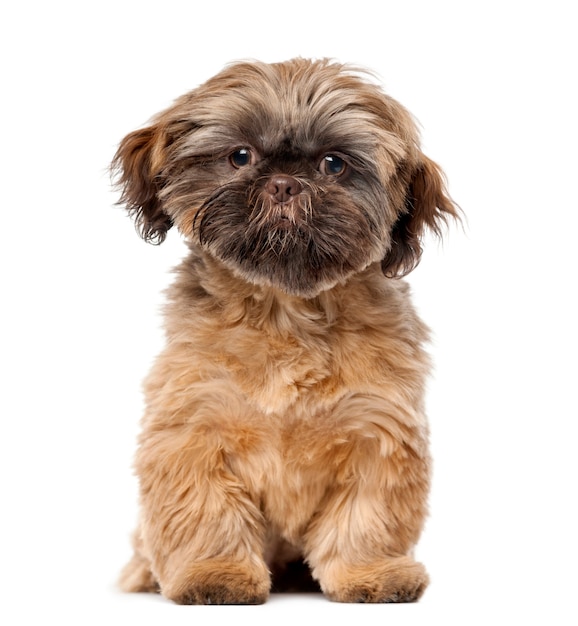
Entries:
<svg viewBox="0 0 578 626">
<path fill-rule="evenodd" d="M 118 204 L 126 206 L 141 237 L 154 244 L 162 243 L 173 225 L 159 199 L 168 143 L 158 123 L 135 130 L 120 142 L 111 165 L 121 190 Z"/>
</svg>

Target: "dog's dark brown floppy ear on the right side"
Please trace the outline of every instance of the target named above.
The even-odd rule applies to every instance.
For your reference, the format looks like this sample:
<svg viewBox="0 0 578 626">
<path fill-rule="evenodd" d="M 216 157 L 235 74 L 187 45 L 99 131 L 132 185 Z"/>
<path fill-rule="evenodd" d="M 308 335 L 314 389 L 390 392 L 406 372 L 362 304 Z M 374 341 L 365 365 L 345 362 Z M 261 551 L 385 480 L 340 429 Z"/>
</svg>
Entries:
<svg viewBox="0 0 578 626">
<path fill-rule="evenodd" d="M 422 255 L 421 239 L 426 228 L 441 237 L 449 217 L 459 219 L 458 208 L 447 193 L 443 172 L 422 155 L 408 186 L 405 211 L 393 227 L 391 248 L 381 262 L 383 273 L 401 277 L 415 269 Z"/>
</svg>

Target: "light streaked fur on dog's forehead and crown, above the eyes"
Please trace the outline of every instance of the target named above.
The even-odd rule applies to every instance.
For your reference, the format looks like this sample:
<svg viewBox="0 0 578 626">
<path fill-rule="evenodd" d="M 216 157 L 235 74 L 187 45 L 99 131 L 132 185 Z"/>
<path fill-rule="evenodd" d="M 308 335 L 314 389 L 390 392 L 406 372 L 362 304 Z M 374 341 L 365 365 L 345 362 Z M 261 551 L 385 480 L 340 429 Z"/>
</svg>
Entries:
<svg viewBox="0 0 578 626">
<path fill-rule="evenodd" d="M 412 160 L 418 143 L 415 124 L 399 103 L 361 71 L 327 60 L 231 65 L 164 116 L 169 126 L 189 129 L 180 133 L 179 157 L 245 145 L 262 156 L 341 150 L 359 160 L 379 150 L 380 165 L 393 167 Z"/>
</svg>

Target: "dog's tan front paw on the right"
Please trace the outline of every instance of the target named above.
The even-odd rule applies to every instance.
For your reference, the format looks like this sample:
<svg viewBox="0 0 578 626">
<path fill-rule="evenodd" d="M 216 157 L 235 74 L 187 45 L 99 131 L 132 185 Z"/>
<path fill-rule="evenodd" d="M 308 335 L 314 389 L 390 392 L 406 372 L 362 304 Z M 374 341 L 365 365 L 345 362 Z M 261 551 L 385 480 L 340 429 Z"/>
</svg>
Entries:
<svg viewBox="0 0 578 626">
<path fill-rule="evenodd" d="M 330 568 L 324 578 L 323 591 L 335 602 L 416 602 L 429 582 L 424 566 L 409 557 Z"/>
</svg>

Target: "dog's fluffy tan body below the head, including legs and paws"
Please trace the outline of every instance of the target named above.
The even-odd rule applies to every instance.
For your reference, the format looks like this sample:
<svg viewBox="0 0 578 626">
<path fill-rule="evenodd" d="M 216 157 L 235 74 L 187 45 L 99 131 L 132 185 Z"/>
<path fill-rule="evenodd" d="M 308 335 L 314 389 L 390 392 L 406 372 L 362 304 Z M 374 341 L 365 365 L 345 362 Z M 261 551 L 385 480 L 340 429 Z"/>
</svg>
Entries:
<svg viewBox="0 0 578 626">
<path fill-rule="evenodd" d="M 427 193 L 443 198 L 434 183 Z M 193 243 L 145 385 L 141 518 L 123 588 L 258 603 L 271 572 L 303 558 L 331 599 L 416 600 L 429 364 L 407 284 L 376 257 L 303 297 L 247 279 L 195 243 L 196 209 L 171 210 Z"/>
</svg>

